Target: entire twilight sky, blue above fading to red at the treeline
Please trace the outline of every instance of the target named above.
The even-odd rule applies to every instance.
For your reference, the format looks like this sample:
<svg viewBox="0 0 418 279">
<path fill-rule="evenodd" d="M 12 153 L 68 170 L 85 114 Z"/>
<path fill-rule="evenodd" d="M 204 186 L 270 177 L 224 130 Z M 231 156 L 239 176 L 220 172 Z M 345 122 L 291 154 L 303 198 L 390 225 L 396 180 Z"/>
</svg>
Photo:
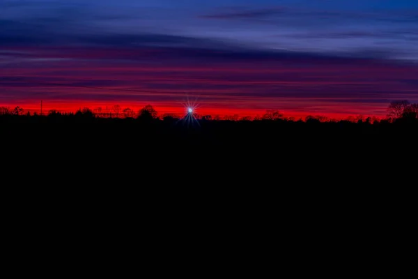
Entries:
<svg viewBox="0 0 418 279">
<path fill-rule="evenodd" d="M 0 0 L 0 106 L 385 116 L 417 45 L 412 0 Z"/>
</svg>

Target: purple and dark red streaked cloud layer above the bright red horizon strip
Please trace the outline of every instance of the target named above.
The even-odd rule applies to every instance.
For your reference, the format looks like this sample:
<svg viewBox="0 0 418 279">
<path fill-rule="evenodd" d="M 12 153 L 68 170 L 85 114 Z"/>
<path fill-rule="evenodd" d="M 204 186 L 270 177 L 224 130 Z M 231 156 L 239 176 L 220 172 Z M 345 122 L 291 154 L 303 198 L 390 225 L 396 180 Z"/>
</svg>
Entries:
<svg viewBox="0 0 418 279">
<path fill-rule="evenodd" d="M 193 49 L 159 50 L 171 57 L 173 63 L 167 63 L 160 55 L 146 55 L 146 63 L 139 56 L 134 60 L 118 60 L 132 53 L 123 56 L 127 49 L 100 51 L 100 47 L 57 52 L 85 56 L 82 59 L 18 63 L 0 78 L 0 101 L 91 102 L 94 106 L 98 102 L 114 105 L 137 101 L 156 107 L 162 104 L 175 107 L 185 92 L 191 92 L 199 94 L 202 107 L 229 110 L 274 107 L 284 111 L 348 114 L 384 110 L 390 100 L 398 98 L 417 102 L 418 84 L 414 81 L 418 68 L 406 63 L 303 53 L 268 54 L 265 56 L 268 59 L 260 59 L 263 52 L 256 50 L 240 52 L 232 58 L 231 52 L 226 51 L 208 55 L 208 51 Z M 196 57 L 187 60 L 190 57 L 187 55 L 194 51 Z M 45 54 L 50 52 L 45 50 Z M 93 53 L 97 56 L 91 59 Z"/>
</svg>

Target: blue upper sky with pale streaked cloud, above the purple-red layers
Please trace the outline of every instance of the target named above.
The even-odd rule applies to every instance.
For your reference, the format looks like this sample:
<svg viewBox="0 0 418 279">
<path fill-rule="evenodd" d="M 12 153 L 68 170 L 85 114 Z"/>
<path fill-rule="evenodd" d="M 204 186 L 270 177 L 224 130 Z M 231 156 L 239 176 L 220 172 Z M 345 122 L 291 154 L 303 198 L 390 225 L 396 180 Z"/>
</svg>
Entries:
<svg viewBox="0 0 418 279">
<path fill-rule="evenodd" d="M 3 0 L 0 10 L 2 47 L 202 47 L 215 40 L 327 54 L 385 45 L 391 58 L 418 56 L 417 1 Z"/>
</svg>

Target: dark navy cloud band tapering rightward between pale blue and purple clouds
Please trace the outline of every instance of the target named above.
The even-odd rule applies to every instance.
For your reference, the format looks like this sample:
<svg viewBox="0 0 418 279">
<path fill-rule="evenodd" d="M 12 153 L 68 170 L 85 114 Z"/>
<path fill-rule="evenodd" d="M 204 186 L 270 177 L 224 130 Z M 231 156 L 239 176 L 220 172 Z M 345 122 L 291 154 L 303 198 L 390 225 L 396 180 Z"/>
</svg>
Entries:
<svg viewBox="0 0 418 279">
<path fill-rule="evenodd" d="M 65 24 L 64 24 L 65 25 Z M 169 59 L 192 62 L 206 60 L 214 61 L 341 61 L 347 57 L 371 59 L 386 59 L 393 52 L 390 50 L 353 48 L 338 55 L 321 54 L 320 52 L 302 52 L 288 50 L 272 50 L 263 46 L 241 45 L 227 40 L 212 38 L 196 38 L 192 36 L 171 35 L 167 33 L 106 33 L 83 34 L 72 32 L 71 29 L 57 31 L 60 26 L 50 27 L 40 24 L 37 20 L 17 22 L 13 20 L 0 21 L 0 46 L 3 56 L 10 59 L 128 59 L 132 61 Z M 63 26 L 62 26 L 63 27 Z M 63 28 L 64 29 L 64 28 Z M 288 36 L 297 36 L 295 34 Z M 299 34 L 299 36 L 304 36 Z M 311 33 L 310 36 L 367 36 L 361 33 Z M 8 50 L 9 53 L 4 54 Z M 17 50 L 26 50 L 19 53 Z M 12 51 L 12 52 L 10 52 Z M 15 54 L 13 54 L 15 51 Z M 0 53 L 1 54 L 1 53 Z M 203 59 L 203 60 L 202 60 Z M 350 63 L 348 60 L 344 60 Z"/>
</svg>

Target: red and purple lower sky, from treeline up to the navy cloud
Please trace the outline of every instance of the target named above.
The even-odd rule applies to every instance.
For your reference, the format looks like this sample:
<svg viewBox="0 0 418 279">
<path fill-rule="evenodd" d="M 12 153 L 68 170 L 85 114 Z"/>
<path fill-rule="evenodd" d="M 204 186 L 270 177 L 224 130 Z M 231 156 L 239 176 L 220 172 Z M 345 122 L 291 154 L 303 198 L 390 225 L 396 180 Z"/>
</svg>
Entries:
<svg viewBox="0 0 418 279">
<path fill-rule="evenodd" d="M 384 118 L 391 100 L 417 103 L 418 67 L 373 59 L 251 61 L 164 55 L 163 50 L 98 47 L 15 47 L 21 60 L 0 64 L 0 106 L 42 114 L 119 105 L 134 112 L 153 105 L 160 116 L 187 112 L 185 93 L 195 93 L 194 113 L 212 116 L 285 117 L 363 115 Z M 132 60 L 130 60 L 132 59 Z M 10 63 L 9 63 L 10 62 Z M 2 65 L 5 65 L 1 68 Z"/>
</svg>

